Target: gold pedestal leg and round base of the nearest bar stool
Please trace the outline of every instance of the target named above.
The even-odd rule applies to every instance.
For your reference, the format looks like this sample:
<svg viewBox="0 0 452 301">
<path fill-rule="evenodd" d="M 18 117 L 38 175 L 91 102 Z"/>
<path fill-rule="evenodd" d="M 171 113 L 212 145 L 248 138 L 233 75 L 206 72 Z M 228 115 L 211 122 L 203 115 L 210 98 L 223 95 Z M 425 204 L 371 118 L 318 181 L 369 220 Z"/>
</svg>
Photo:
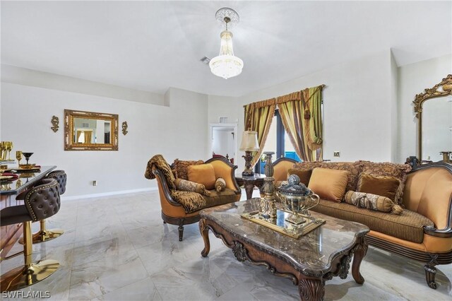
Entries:
<svg viewBox="0 0 452 301">
<path fill-rule="evenodd" d="M 23 223 L 23 252 L 25 264 L 18 268 L 13 268 L 0 276 L 1 292 L 20 290 L 29 285 L 38 283 L 49 277 L 59 268 L 59 262 L 56 260 L 44 260 L 32 263 L 32 235 L 31 222 Z"/>
</svg>

